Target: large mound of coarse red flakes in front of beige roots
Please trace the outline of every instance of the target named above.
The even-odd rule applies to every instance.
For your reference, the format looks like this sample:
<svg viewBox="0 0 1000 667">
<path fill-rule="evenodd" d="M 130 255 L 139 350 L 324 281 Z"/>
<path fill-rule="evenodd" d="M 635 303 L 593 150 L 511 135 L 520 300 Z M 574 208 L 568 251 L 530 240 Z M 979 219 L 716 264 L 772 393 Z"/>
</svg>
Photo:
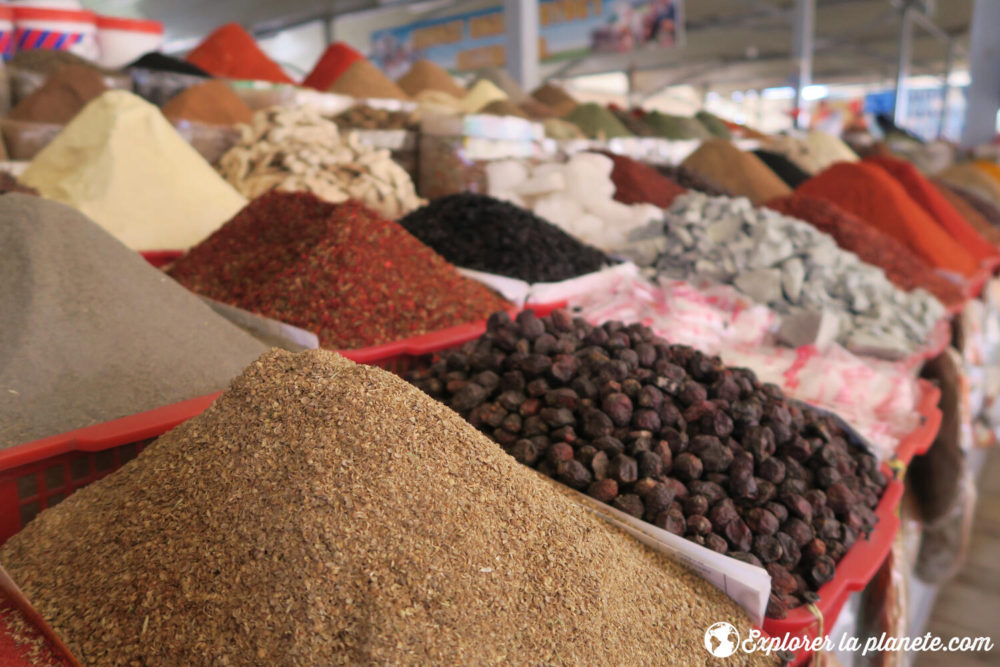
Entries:
<svg viewBox="0 0 1000 667">
<path fill-rule="evenodd" d="M 355 201 L 304 192 L 258 197 L 170 269 L 198 294 L 319 336 L 379 345 L 509 307 L 395 222 Z"/>
</svg>

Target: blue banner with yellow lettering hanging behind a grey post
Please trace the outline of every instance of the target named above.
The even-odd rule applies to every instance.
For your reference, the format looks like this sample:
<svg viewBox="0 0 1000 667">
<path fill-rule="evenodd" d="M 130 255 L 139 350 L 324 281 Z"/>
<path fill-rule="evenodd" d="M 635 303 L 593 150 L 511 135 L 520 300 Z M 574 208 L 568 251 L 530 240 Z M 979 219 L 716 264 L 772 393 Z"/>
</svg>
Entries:
<svg viewBox="0 0 1000 667">
<path fill-rule="evenodd" d="M 683 0 L 541 0 L 539 58 L 674 48 L 683 38 Z M 420 59 L 453 71 L 506 63 L 503 7 L 453 14 L 372 33 L 371 59 L 401 76 Z"/>
</svg>

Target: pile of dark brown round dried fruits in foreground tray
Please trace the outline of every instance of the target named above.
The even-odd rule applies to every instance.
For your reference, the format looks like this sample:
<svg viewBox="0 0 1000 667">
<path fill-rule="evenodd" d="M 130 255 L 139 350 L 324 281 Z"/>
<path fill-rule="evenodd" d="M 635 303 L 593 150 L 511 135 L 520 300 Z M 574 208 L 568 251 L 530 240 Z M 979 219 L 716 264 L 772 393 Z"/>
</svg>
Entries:
<svg viewBox="0 0 1000 667">
<path fill-rule="evenodd" d="M 886 479 L 836 421 L 641 324 L 498 314 L 410 380 L 519 462 L 766 567 L 771 618 L 815 600 L 878 521 Z"/>
</svg>

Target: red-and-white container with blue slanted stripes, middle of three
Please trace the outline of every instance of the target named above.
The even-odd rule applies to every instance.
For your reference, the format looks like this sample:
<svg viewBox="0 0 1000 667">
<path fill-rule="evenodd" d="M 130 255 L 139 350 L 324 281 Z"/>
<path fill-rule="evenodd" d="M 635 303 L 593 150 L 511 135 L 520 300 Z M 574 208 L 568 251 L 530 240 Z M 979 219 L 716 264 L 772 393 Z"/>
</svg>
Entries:
<svg viewBox="0 0 1000 667">
<path fill-rule="evenodd" d="M 71 51 L 97 60 L 97 15 L 45 7 L 14 7 L 14 42 L 18 51 Z"/>
</svg>

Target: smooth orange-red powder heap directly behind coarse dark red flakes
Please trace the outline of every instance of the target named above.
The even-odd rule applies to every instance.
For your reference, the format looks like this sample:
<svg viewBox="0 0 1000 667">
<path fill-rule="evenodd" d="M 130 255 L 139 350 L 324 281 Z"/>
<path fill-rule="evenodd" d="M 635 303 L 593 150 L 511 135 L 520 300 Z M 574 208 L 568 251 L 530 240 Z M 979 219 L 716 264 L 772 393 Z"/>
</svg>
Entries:
<svg viewBox="0 0 1000 667">
<path fill-rule="evenodd" d="M 931 266 L 971 276 L 979 263 L 941 228 L 902 185 L 871 164 L 838 162 L 796 191 L 832 201 L 909 246 Z"/>
</svg>

